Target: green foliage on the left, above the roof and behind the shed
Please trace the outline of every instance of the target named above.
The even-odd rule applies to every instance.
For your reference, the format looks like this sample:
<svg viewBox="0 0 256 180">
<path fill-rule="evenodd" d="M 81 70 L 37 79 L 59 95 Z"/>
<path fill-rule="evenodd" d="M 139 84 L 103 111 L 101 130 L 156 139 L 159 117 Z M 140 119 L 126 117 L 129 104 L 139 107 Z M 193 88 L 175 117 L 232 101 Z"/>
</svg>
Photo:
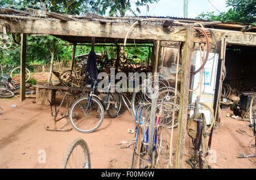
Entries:
<svg viewBox="0 0 256 180">
<path fill-rule="evenodd" d="M 110 16 L 124 16 L 127 11 L 134 15 L 140 12 L 139 7 L 159 0 L 135 0 L 136 10 L 131 9 L 130 0 L 1 0 L 0 7 L 9 7 L 16 10 L 24 10 L 25 7 L 34 9 L 46 9 L 49 12 L 60 14 L 85 15 L 86 12 L 93 12 L 105 15 L 108 11 Z M 45 65 L 51 61 L 51 52 L 55 52 L 54 60 L 68 63 L 72 57 L 72 46 L 67 42 L 53 36 L 27 36 L 27 58 L 26 65 Z M 96 46 L 96 53 L 107 53 L 109 59 L 116 58 L 117 49 L 112 46 Z M 90 46 L 77 46 L 76 55 L 90 52 Z M 137 55 L 139 61 L 147 61 L 148 47 L 126 48 L 129 59 Z M 13 42 L 10 49 L 0 50 L 0 63 L 3 71 L 10 72 L 14 67 L 20 66 L 20 45 Z M 31 66 L 32 68 L 32 66 Z M 32 70 L 30 68 L 30 70 Z"/>
</svg>

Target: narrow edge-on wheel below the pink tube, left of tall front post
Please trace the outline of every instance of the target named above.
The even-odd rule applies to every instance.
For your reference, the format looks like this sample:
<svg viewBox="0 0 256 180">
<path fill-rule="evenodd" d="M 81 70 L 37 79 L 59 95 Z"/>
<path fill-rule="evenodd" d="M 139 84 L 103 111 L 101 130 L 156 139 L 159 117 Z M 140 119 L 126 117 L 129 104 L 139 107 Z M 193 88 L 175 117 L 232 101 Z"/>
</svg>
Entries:
<svg viewBox="0 0 256 180">
<path fill-rule="evenodd" d="M 158 159 L 156 160 L 155 168 L 170 168 L 170 148 L 172 147 L 170 145 L 170 140 L 170 131 L 166 127 L 160 126 L 158 129 L 158 144 L 156 145 Z"/>
</svg>

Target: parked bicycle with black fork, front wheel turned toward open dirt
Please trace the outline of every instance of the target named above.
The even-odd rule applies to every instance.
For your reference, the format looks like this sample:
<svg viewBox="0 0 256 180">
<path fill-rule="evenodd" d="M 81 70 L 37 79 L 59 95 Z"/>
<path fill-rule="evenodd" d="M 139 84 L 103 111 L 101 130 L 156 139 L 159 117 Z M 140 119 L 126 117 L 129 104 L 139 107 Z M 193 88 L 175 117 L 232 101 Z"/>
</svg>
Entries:
<svg viewBox="0 0 256 180">
<path fill-rule="evenodd" d="M 96 131 L 104 119 L 104 112 L 107 112 L 110 118 L 115 118 L 121 109 L 121 96 L 119 93 L 111 93 L 110 82 L 108 92 L 106 92 L 105 101 L 96 92 L 98 80 L 88 78 L 93 82 L 92 91 L 85 97 L 76 100 L 69 111 L 69 120 L 71 125 L 79 132 L 90 133 Z M 87 86 L 90 87 L 90 86 Z"/>
</svg>

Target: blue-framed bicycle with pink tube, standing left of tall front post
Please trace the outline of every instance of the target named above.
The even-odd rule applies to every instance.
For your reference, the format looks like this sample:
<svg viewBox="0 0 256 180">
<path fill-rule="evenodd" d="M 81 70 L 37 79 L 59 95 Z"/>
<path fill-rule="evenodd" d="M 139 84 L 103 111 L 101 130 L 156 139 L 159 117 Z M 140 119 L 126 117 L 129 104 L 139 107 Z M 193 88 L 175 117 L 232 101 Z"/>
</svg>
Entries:
<svg viewBox="0 0 256 180">
<path fill-rule="evenodd" d="M 162 121 L 164 102 L 162 100 L 159 112 L 155 114 L 156 119 L 151 120 L 147 113 L 142 113 L 143 108 L 144 105 L 138 106 L 135 117 L 135 147 L 131 168 L 168 168 L 172 146 L 171 134 Z M 155 126 L 152 121 L 155 121 Z"/>
</svg>

